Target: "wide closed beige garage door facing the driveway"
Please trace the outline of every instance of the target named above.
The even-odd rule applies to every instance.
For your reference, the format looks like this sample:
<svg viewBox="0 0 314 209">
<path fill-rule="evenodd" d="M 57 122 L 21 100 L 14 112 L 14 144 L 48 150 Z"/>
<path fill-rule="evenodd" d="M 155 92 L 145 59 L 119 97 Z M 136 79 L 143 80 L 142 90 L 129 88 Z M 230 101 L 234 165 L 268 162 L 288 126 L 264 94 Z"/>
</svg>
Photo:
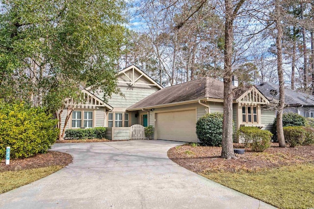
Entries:
<svg viewBox="0 0 314 209">
<path fill-rule="evenodd" d="M 157 139 L 197 142 L 195 110 L 156 113 L 155 119 Z"/>
</svg>

